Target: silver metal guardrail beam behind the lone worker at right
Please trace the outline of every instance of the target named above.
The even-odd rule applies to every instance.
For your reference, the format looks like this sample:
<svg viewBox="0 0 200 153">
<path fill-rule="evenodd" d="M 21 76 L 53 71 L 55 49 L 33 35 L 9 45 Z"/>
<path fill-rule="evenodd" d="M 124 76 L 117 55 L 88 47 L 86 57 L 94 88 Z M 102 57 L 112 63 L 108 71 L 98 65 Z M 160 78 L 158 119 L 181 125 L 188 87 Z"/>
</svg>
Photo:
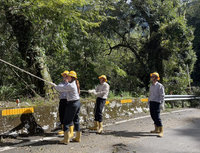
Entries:
<svg viewBox="0 0 200 153">
<path fill-rule="evenodd" d="M 176 100 L 198 100 L 200 97 L 195 95 L 165 95 L 165 101 L 176 101 Z"/>
</svg>

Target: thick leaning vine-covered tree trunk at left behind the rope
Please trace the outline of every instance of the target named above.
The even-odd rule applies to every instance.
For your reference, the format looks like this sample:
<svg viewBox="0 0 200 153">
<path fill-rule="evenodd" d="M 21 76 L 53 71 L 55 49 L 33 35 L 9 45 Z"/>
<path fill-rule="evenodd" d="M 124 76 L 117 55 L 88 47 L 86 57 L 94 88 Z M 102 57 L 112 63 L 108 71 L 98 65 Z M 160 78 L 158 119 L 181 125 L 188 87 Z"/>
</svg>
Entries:
<svg viewBox="0 0 200 153">
<path fill-rule="evenodd" d="M 34 41 L 33 24 L 24 15 L 13 14 L 7 6 L 5 6 L 5 15 L 12 27 L 14 36 L 17 38 L 18 51 L 22 59 L 27 62 L 29 71 L 51 82 L 52 79 L 45 63 L 45 53 Z M 40 95 L 51 95 L 52 98 L 54 97 L 52 95 L 53 89 L 48 84 L 35 78 L 31 78 L 31 82 L 38 87 Z"/>
</svg>

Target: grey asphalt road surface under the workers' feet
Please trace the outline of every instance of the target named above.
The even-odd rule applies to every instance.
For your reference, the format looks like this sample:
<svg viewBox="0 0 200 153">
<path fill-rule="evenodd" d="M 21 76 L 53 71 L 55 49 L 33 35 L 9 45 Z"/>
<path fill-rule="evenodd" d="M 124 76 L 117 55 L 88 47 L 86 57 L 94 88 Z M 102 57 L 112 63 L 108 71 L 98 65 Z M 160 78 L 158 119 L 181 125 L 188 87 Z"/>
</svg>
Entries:
<svg viewBox="0 0 200 153">
<path fill-rule="evenodd" d="M 81 143 L 59 144 L 61 137 L 17 137 L 3 139 L 0 152 L 6 153 L 200 153 L 200 109 L 165 112 L 161 116 L 164 137 L 149 133 L 148 116 L 104 127 L 99 135 L 83 129 Z"/>
</svg>

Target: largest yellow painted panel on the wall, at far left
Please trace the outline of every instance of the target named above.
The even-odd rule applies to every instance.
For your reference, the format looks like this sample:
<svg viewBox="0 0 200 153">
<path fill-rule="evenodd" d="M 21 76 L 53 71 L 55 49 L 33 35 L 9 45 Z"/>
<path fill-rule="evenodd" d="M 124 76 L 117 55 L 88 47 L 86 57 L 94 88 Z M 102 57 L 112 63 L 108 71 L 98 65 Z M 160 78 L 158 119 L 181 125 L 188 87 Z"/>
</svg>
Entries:
<svg viewBox="0 0 200 153">
<path fill-rule="evenodd" d="M 34 113 L 33 107 L 2 110 L 2 116 Z"/>
</svg>

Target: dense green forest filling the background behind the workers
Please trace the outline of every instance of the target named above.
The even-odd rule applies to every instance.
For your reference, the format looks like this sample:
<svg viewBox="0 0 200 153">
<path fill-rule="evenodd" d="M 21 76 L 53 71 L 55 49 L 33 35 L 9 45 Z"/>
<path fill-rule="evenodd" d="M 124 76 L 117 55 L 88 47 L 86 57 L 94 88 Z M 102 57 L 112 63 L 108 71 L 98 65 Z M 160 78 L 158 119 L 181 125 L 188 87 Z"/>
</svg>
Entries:
<svg viewBox="0 0 200 153">
<path fill-rule="evenodd" d="M 179 0 L 2 0 L 0 57 L 56 83 L 75 70 L 82 89 L 105 74 L 113 91 L 135 96 L 146 94 L 157 71 L 167 94 L 182 93 L 196 61 L 191 10 Z M 11 97 L 53 92 L 2 63 L 0 72 L 0 90 Z"/>
</svg>

